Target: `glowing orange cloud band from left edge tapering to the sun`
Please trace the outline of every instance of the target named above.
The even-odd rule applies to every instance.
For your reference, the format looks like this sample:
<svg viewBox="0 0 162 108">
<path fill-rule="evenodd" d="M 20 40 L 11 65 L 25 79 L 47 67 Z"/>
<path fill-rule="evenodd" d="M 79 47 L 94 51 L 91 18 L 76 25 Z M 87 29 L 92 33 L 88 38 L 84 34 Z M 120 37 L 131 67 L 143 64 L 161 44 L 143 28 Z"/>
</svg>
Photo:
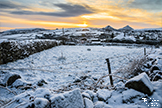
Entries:
<svg viewBox="0 0 162 108">
<path fill-rule="evenodd" d="M 26 27 L 39 27 L 39 28 L 48 28 L 48 29 L 55 29 L 55 28 L 72 28 L 72 27 L 87 27 L 87 22 L 80 22 L 80 23 L 69 23 L 69 22 L 59 22 L 59 21 L 33 21 L 33 20 L 25 20 L 21 18 L 12 18 L 12 17 L 6 17 L 2 16 L 0 19 L 0 22 L 3 22 L 3 25 L 20 25 L 15 28 L 24 28 Z M 2 30 L 6 30 L 9 28 L 14 27 L 1 27 Z"/>
</svg>

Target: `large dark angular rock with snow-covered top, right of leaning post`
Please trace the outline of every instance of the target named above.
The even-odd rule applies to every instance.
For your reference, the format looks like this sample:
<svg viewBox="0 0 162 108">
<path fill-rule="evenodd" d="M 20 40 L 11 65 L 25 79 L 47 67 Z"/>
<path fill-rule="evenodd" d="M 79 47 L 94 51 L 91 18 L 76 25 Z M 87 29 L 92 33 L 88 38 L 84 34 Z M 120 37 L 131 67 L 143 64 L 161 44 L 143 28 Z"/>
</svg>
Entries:
<svg viewBox="0 0 162 108">
<path fill-rule="evenodd" d="M 153 93 L 153 85 L 145 72 L 128 80 L 125 87 L 135 89 L 148 95 Z"/>
</svg>

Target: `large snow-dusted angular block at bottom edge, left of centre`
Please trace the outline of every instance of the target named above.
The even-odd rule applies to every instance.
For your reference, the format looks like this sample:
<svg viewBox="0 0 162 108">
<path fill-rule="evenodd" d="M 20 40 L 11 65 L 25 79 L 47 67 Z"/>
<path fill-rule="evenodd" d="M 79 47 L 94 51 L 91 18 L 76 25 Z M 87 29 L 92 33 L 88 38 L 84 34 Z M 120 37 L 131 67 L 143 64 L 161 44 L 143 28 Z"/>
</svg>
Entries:
<svg viewBox="0 0 162 108">
<path fill-rule="evenodd" d="M 75 89 L 50 98 L 51 108 L 84 108 L 80 89 Z"/>
</svg>

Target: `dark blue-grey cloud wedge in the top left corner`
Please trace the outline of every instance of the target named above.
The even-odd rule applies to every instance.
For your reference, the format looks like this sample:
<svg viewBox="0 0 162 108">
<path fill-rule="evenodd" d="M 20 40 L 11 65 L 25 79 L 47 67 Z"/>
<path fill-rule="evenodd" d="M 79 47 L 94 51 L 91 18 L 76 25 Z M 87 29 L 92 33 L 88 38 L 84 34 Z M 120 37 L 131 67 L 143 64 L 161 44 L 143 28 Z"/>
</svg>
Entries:
<svg viewBox="0 0 162 108">
<path fill-rule="evenodd" d="M 0 9 L 21 9 L 26 8 L 26 6 L 18 5 L 11 1 L 0 1 Z"/>
</svg>

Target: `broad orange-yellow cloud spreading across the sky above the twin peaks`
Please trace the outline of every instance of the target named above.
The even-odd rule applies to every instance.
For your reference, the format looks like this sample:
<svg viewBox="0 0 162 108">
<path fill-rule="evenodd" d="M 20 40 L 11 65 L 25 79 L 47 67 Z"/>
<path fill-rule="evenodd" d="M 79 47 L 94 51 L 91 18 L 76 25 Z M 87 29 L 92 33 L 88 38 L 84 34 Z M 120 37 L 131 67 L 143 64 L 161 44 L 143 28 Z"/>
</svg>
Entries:
<svg viewBox="0 0 162 108">
<path fill-rule="evenodd" d="M 79 0 L 67 0 L 71 3 L 78 3 Z M 128 0 L 127 2 L 123 0 L 82 0 L 80 4 L 89 4 L 89 6 L 95 8 L 97 13 L 82 15 L 81 18 L 83 20 L 106 20 L 109 22 L 111 21 L 123 21 L 123 22 L 130 22 L 130 23 L 141 23 L 142 24 L 150 24 L 157 27 L 161 26 L 161 20 L 159 13 L 149 12 L 143 9 L 135 9 L 126 7 L 127 4 L 132 3 L 134 0 Z M 125 4 L 124 4 L 125 3 Z M 106 25 L 106 24 L 105 24 Z"/>
</svg>

